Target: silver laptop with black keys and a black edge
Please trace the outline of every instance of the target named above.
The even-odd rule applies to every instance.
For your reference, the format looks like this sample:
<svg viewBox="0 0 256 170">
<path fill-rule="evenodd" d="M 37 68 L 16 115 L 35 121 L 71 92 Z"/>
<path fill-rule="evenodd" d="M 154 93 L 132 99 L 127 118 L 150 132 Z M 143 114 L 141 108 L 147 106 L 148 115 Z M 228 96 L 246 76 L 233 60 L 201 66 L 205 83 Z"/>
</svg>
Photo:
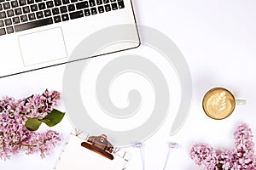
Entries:
<svg viewBox="0 0 256 170">
<path fill-rule="evenodd" d="M 72 62 L 68 56 L 80 42 L 111 26 L 117 26 L 120 42 L 133 42 L 97 55 L 140 45 L 131 0 L 0 0 L 0 77 Z M 90 38 L 104 42 L 107 35 Z"/>
</svg>

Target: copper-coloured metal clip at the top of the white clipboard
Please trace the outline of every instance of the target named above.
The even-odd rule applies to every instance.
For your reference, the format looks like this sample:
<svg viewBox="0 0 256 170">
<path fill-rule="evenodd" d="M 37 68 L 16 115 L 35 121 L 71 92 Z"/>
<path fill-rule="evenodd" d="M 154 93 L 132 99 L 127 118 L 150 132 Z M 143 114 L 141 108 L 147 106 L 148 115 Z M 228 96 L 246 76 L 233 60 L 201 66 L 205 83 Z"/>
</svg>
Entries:
<svg viewBox="0 0 256 170">
<path fill-rule="evenodd" d="M 81 145 L 88 150 L 92 150 L 101 156 L 105 156 L 110 160 L 113 160 L 113 145 L 108 142 L 107 135 L 90 136 L 86 142 L 82 142 Z"/>
</svg>

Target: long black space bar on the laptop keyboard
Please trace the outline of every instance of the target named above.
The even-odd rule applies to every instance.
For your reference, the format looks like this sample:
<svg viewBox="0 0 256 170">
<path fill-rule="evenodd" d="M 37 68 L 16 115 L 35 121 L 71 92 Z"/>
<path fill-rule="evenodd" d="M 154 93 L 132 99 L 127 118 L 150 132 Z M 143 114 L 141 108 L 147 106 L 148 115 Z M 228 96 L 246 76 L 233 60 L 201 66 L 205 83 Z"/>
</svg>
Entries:
<svg viewBox="0 0 256 170">
<path fill-rule="evenodd" d="M 15 31 L 24 31 L 24 30 L 36 28 L 39 26 L 47 26 L 50 24 L 53 24 L 52 18 L 47 18 L 47 19 L 43 19 L 43 20 L 35 20 L 32 22 L 28 22 L 28 23 L 24 23 L 24 24 L 15 26 Z"/>
</svg>

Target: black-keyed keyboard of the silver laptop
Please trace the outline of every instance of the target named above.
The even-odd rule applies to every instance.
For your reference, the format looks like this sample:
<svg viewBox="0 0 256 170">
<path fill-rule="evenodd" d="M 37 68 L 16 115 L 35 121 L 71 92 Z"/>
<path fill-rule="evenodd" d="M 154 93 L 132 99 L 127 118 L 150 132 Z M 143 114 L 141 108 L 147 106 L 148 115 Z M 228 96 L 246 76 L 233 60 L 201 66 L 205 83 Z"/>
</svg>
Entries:
<svg viewBox="0 0 256 170">
<path fill-rule="evenodd" d="M 0 36 L 121 8 L 123 0 L 0 0 Z"/>
</svg>

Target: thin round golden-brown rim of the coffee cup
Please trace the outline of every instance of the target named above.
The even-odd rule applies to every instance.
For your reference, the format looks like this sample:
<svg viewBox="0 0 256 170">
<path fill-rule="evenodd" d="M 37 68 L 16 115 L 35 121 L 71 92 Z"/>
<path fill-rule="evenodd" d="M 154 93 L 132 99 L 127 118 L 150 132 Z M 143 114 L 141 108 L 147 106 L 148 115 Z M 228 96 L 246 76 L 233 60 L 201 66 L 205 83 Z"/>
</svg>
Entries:
<svg viewBox="0 0 256 170">
<path fill-rule="evenodd" d="M 206 106 L 205 106 L 207 104 L 207 101 L 206 101 L 207 95 L 212 93 L 212 91 L 215 91 L 215 90 L 224 90 L 225 92 L 230 94 L 230 96 L 232 98 L 232 102 L 233 102 L 232 109 L 230 110 L 229 114 L 227 114 L 226 116 L 221 117 L 221 118 L 212 116 L 212 114 L 208 113 Z M 235 110 L 235 107 L 236 107 L 235 96 L 230 92 L 230 90 L 228 90 L 226 88 L 212 88 L 209 91 L 207 91 L 207 94 L 204 95 L 203 100 L 202 100 L 202 108 L 203 108 L 204 112 L 207 114 L 207 116 L 209 116 L 210 118 L 215 119 L 215 120 L 223 120 L 223 119 L 227 118 L 228 116 L 230 116 L 233 113 L 233 111 Z"/>
</svg>

